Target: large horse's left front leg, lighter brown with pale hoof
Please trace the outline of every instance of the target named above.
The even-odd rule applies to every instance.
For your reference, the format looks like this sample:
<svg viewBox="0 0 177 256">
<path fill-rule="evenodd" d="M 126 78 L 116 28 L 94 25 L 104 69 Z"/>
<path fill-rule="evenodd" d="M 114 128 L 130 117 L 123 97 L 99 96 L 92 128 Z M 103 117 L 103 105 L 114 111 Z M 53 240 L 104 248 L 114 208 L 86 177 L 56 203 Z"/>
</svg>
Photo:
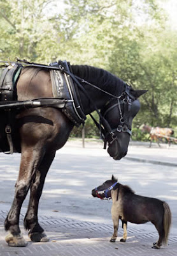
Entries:
<svg viewBox="0 0 177 256">
<path fill-rule="evenodd" d="M 39 163 L 40 154 L 34 152 L 33 148 L 23 151 L 21 156 L 20 171 L 15 184 L 15 196 L 8 216 L 4 221 L 4 228 L 10 234 L 6 236 L 9 246 L 24 247 L 27 245 L 24 237 L 20 234 L 19 216 L 22 203 L 31 185 L 32 177 Z"/>
</svg>

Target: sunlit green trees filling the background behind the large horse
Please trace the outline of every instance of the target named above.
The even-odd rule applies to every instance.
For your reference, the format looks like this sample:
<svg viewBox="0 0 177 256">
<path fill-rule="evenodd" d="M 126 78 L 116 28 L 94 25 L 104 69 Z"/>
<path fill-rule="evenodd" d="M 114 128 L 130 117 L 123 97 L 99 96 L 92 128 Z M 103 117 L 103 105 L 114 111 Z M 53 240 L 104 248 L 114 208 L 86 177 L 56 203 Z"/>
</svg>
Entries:
<svg viewBox="0 0 177 256">
<path fill-rule="evenodd" d="M 55 0 L 1 0 L 0 60 L 15 56 L 50 63 L 67 60 L 109 70 L 146 89 L 141 110 L 134 120 L 134 138 L 142 139 L 138 127 L 177 126 L 177 31 L 156 0 L 66 0 L 64 12 Z M 60 8 L 60 6 L 58 7 Z M 49 12 L 52 11 L 52 12 Z M 73 134 L 79 136 L 80 129 Z M 90 117 L 87 136 L 99 131 Z M 146 140 L 146 138 L 145 138 Z"/>
</svg>

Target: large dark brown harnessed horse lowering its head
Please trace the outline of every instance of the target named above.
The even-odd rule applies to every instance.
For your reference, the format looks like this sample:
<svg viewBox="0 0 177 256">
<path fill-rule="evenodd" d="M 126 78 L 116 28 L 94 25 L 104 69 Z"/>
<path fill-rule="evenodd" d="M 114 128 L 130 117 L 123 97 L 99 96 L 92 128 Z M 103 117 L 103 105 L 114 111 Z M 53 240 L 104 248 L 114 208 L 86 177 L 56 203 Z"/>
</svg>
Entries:
<svg viewBox="0 0 177 256">
<path fill-rule="evenodd" d="M 72 65 L 71 68 L 74 76 L 81 77 L 107 92 L 83 81 L 80 84 L 87 95 L 78 87 L 83 113 L 88 115 L 95 109 L 101 109 L 103 118 L 111 127 L 111 131 L 104 138 L 108 142 L 108 153 L 115 160 L 121 159 L 127 154 L 132 120 L 140 108 L 137 98 L 145 91 L 133 90 L 117 76 L 100 68 L 84 65 Z M 53 98 L 49 69 L 23 67 L 17 83 L 17 97 L 20 101 Z M 38 223 L 39 198 L 55 152 L 64 146 L 74 124 L 62 109 L 31 108 L 18 113 L 15 125 L 20 138 L 21 162 L 15 196 L 4 227 L 9 232 L 6 236 L 9 246 L 26 246 L 18 225 L 22 203 L 30 189 L 24 226 L 29 230 L 32 241 L 48 241 Z"/>
</svg>

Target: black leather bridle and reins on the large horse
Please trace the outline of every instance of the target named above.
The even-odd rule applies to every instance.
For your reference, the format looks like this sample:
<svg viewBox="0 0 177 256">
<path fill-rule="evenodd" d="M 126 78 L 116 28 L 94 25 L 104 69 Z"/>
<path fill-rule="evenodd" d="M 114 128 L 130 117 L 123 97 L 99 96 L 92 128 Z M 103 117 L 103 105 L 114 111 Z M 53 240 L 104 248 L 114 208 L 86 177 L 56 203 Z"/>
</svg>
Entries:
<svg viewBox="0 0 177 256">
<path fill-rule="evenodd" d="M 124 92 L 120 96 L 116 96 L 116 95 L 113 95 L 113 94 L 111 94 L 109 92 L 104 91 L 103 89 L 97 87 L 94 84 L 88 83 L 87 81 L 85 81 L 81 77 L 74 76 L 73 73 L 68 72 L 65 69 L 64 65 L 62 65 L 62 61 L 59 61 L 59 66 L 58 67 L 51 66 L 51 65 L 41 65 L 41 64 L 38 64 L 38 63 L 31 63 L 31 62 L 26 61 L 26 60 L 20 60 L 19 58 L 17 58 L 17 61 L 24 63 L 26 65 L 26 67 L 41 67 L 41 68 L 47 68 L 47 69 L 55 69 L 55 70 L 60 70 L 62 72 L 65 72 L 66 74 L 71 76 L 73 81 L 78 85 L 78 87 L 83 91 L 83 93 L 85 93 L 85 95 L 88 97 L 90 102 L 94 105 L 94 108 L 96 109 L 97 114 L 99 115 L 99 123 L 97 123 L 97 121 L 90 114 L 91 118 L 94 120 L 94 123 L 96 124 L 96 126 L 99 129 L 99 131 L 101 132 L 101 136 L 102 136 L 103 141 L 104 141 L 104 148 L 106 148 L 106 143 L 108 142 L 108 140 L 107 140 L 108 135 L 111 135 L 111 139 L 112 139 L 111 141 L 108 142 L 110 144 L 113 143 L 113 141 L 116 140 L 118 132 L 127 132 L 131 136 L 131 130 L 127 126 L 126 122 L 124 121 L 124 118 L 122 116 L 122 111 L 121 111 L 121 108 L 120 108 L 120 104 L 128 103 L 128 109 L 130 109 L 131 108 L 131 102 L 132 102 L 132 100 L 134 100 L 134 97 L 129 92 L 130 86 L 128 84 L 125 83 L 125 90 L 124 90 Z M 0 62 L 5 63 L 5 65 L 10 65 L 10 63 L 17 63 L 17 61 L 16 62 L 15 61 L 0 61 Z M 3 66 L 5 66 L 5 65 L 3 65 Z M 78 82 L 78 80 L 80 80 L 81 83 L 86 83 L 86 84 L 96 88 L 97 90 L 100 90 L 101 92 L 104 92 L 107 95 L 110 95 L 112 97 L 111 100 L 117 99 L 117 103 L 114 104 L 113 106 L 111 106 L 110 108 L 108 108 L 106 110 L 106 112 L 104 113 L 104 115 L 101 115 L 101 113 L 97 109 L 96 105 L 94 104 L 92 99 L 89 97 L 87 91 L 83 88 L 83 86 L 81 86 L 81 84 Z M 122 100 L 120 100 L 122 97 L 124 97 L 124 98 Z M 104 118 L 104 116 L 106 115 L 106 113 L 108 113 L 108 111 L 110 111 L 112 108 L 115 108 L 116 106 L 118 106 L 119 113 L 120 113 L 120 124 L 118 124 L 118 127 L 116 129 L 111 129 L 110 124 L 108 124 L 108 122 Z M 102 127 L 102 124 L 103 124 L 104 129 Z"/>
</svg>

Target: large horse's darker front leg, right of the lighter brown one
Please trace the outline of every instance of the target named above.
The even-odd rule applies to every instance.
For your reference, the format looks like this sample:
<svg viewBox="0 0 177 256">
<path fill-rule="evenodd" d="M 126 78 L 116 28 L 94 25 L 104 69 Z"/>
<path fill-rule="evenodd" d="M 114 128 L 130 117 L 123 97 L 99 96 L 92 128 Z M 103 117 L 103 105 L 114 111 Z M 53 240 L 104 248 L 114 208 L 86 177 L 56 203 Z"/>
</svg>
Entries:
<svg viewBox="0 0 177 256">
<path fill-rule="evenodd" d="M 27 230 L 29 230 L 29 237 L 31 240 L 35 242 L 47 242 L 49 240 L 43 228 L 38 223 L 38 204 L 43 190 L 46 174 L 54 157 L 55 152 L 52 154 L 45 154 L 31 184 L 31 195 L 27 213 L 25 215 L 24 226 Z"/>
</svg>

